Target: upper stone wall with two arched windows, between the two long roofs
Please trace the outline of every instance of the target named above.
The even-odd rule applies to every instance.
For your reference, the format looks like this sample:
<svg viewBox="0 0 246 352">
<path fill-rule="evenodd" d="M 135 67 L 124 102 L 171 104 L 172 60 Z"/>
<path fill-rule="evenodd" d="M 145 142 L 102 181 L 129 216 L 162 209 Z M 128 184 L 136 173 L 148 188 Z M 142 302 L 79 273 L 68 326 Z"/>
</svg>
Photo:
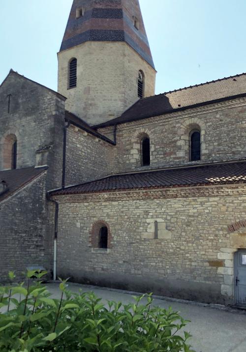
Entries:
<svg viewBox="0 0 246 352">
<path fill-rule="evenodd" d="M 201 130 L 201 160 L 189 161 L 189 132 Z M 112 135 L 112 127 L 98 130 Z M 141 167 L 140 141 L 149 135 L 150 166 Z M 215 161 L 246 155 L 246 100 L 235 99 L 182 112 L 117 125 L 113 170 L 149 170 Z"/>
</svg>

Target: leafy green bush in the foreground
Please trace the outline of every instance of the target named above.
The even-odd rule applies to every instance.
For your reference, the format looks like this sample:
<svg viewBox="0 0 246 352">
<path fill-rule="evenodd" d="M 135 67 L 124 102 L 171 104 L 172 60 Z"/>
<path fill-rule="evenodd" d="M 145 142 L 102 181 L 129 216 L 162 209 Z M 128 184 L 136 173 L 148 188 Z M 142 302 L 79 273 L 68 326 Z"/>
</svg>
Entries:
<svg viewBox="0 0 246 352">
<path fill-rule="evenodd" d="M 94 293 L 71 293 L 61 280 L 61 299 L 53 299 L 44 274 L 28 271 L 25 287 L 0 287 L 1 352 L 191 351 L 190 335 L 180 331 L 187 321 L 171 308 L 154 307 L 151 294 L 105 305 Z"/>
</svg>

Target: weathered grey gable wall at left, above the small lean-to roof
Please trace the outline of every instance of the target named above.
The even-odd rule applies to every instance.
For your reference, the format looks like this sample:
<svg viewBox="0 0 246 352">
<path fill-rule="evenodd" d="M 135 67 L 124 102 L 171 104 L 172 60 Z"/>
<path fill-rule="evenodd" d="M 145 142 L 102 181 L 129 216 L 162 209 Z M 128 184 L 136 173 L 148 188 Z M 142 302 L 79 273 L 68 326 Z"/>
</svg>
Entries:
<svg viewBox="0 0 246 352">
<path fill-rule="evenodd" d="M 8 97 L 11 94 L 8 109 Z M 61 186 L 64 99 L 16 73 L 0 87 L 0 170 L 4 167 L 7 136 L 17 139 L 17 168 L 35 165 L 35 151 L 51 146 L 47 187 Z M 8 167 L 9 168 L 9 167 Z"/>
</svg>

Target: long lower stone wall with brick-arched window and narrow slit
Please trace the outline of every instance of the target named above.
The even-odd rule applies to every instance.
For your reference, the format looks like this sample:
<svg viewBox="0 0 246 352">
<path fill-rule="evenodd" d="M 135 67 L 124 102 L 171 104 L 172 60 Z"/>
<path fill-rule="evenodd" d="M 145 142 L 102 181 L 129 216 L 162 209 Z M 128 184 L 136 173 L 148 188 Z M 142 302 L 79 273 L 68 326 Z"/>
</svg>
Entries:
<svg viewBox="0 0 246 352">
<path fill-rule="evenodd" d="M 233 303 L 229 226 L 246 219 L 246 186 L 54 196 L 59 202 L 58 274 L 76 282 L 204 302 Z M 94 224 L 108 224 L 110 250 L 95 251 Z M 154 221 L 158 238 L 154 238 Z M 237 234 L 236 234 L 237 235 Z"/>
</svg>

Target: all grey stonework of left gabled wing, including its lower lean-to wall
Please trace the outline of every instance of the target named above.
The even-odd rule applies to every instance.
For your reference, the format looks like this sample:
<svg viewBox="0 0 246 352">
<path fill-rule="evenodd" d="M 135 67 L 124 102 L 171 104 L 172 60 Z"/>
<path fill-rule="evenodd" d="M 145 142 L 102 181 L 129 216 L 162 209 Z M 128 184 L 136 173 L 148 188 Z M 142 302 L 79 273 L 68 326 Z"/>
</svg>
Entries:
<svg viewBox="0 0 246 352">
<path fill-rule="evenodd" d="M 28 265 L 52 268 L 54 212 L 46 193 L 62 184 L 64 99 L 11 72 L 0 86 L 0 111 L 0 170 L 9 135 L 17 139 L 18 169 L 36 161 L 38 166 L 48 166 L 40 179 L 0 202 L 0 276 L 5 280 L 9 270 L 19 275 Z"/>
</svg>

